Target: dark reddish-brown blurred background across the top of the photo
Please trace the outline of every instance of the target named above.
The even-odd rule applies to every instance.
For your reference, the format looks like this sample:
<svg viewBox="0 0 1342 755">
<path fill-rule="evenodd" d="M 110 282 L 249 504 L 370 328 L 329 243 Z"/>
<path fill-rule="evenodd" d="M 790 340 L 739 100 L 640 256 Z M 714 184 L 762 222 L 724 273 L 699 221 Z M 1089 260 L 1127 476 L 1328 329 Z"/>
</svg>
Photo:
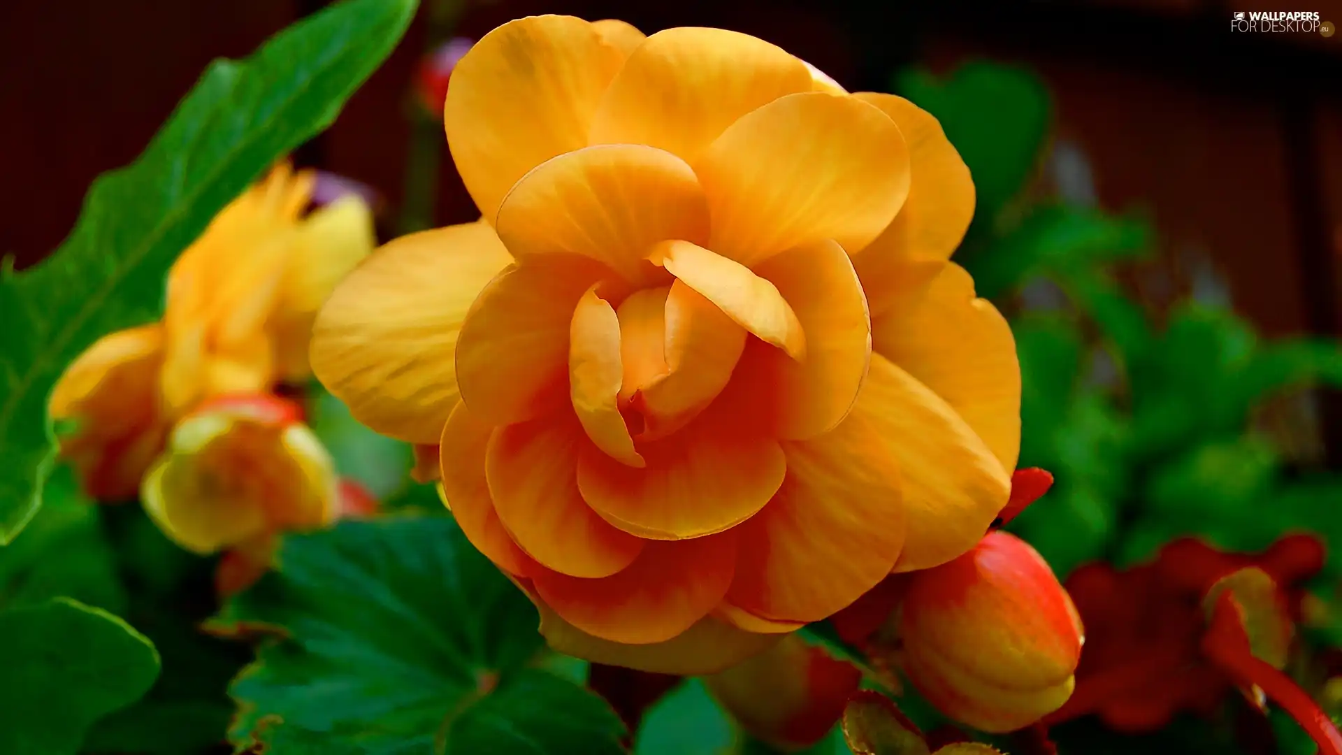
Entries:
<svg viewBox="0 0 1342 755">
<path fill-rule="evenodd" d="M 0 251 L 54 249 L 99 172 L 130 161 L 216 56 L 242 56 L 321 0 L 4 3 L 0 8 Z M 849 89 L 888 90 L 909 63 L 1023 63 L 1056 102 L 1056 141 L 1084 159 L 1099 206 L 1145 208 L 1161 253 L 1204 255 L 1267 336 L 1337 335 L 1342 254 L 1342 35 L 1244 35 L 1233 11 L 1339 0 L 460 0 L 456 34 L 510 17 L 621 17 L 652 32 L 754 34 Z M 1296 7 L 1299 5 L 1299 7 Z M 1306 8 L 1304 5 L 1308 5 Z M 336 126 L 298 156 L 400 200 L 408 89 L 433 3 Z M 1055 145 L 1056 146 L 1056 145 Z M 444 165 L 437 220 L 471 206 Z"/>
</svg>

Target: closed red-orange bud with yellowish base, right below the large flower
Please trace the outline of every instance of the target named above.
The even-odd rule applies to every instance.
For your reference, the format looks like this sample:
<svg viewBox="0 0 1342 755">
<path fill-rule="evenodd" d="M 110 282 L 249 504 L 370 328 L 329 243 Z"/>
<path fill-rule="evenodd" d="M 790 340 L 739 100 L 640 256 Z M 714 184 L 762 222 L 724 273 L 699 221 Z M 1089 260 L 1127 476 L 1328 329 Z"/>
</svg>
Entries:
<svg viewBox="0 0 1342 755">
<path fill-rule="evenodd" d="M 988 732 L 1067 701 L 1082 631 L 1044 559 L 1007 532 L 913 574 L 899 618 L 910 681 L 947 716 Z"/>
</svg>

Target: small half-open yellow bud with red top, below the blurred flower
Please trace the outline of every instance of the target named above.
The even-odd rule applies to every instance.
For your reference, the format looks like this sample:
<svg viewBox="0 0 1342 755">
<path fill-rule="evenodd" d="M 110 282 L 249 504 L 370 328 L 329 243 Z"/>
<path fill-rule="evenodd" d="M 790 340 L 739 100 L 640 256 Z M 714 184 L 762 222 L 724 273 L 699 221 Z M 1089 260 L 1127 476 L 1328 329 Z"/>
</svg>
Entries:
<svg viewBox="0 0 1342 755">
<path fill-rule="evenodd" d="M 197 553 L 330 523 L 337 478 L 298 408 L 268 395 L 201 404 L 168 437 L 141 498 L 164 535 Z"/>
</svg>

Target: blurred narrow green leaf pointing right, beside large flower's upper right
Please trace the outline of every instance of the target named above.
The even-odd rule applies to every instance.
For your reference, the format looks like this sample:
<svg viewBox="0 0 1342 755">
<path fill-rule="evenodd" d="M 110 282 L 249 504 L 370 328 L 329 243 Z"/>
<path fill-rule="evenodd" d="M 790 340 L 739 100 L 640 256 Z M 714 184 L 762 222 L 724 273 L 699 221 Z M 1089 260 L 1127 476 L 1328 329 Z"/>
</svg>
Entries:
<svg viewBox="0 0 1342 755">
<path fill-rule="evenodd" d="M 994 243 L 966 261 L 978 296 L 994 298 L 1027 279 L 1138 257 L 1151 228 L 1134 218 L 1068 204 L 1035 207 Z"/>
</svg>

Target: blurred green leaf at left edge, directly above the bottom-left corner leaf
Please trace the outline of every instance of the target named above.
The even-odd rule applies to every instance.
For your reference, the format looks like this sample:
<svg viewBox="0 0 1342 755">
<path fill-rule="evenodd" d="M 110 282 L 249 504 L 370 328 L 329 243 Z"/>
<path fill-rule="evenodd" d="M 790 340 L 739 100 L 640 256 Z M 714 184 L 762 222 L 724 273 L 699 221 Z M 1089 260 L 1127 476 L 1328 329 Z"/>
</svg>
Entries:
<svg viewBox="0 0 1342 755">
<path fill-rule="evenodd" d="M 0 609 L 67 596 L 114 614 L 126 610 L 126 587 L 101 527 L 102 509 L 81 496 L 68 469 L 47 484 L 47 505 L 24 536 L 0 548 Z"/>
</svg>

